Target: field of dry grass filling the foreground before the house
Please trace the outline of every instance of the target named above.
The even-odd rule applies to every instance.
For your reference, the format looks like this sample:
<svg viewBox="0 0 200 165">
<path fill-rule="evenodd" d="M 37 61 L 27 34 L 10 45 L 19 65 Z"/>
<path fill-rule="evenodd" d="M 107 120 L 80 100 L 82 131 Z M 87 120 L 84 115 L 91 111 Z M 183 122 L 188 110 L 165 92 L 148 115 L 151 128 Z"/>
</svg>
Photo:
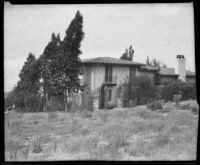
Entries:
<svg viewBox="0 0 200 165">
<path fill-rule="evenodd" d="M 188 103 L 187 103 L 188 104 Z M 5 115 L 6 161 L 194 160 L 198 114 L 146 106 Z"/>
</svg>

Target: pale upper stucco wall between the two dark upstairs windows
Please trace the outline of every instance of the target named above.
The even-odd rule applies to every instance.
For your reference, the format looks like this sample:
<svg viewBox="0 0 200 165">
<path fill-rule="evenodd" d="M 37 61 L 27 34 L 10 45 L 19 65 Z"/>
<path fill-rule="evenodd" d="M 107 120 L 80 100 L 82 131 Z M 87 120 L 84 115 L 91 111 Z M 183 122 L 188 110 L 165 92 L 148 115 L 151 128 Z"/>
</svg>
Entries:
<svg viewBox="0 0 200 165">
<path fill-rule="evenodd" d="M 128 66 L 113 66 L 113 76 L 117 76 L 117 86 L 129 76 Z"/>
</svg>

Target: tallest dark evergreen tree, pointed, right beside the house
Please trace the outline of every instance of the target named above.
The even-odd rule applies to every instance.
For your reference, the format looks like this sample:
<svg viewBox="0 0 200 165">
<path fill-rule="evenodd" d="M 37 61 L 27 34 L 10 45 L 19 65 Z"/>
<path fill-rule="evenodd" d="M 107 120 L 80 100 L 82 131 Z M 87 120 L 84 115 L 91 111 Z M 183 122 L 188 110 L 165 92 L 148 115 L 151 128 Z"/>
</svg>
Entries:
<svg viewBox="0 0 200 165">
<path fill-rule="evenodd" d="M 81 67 L 80 50 L 84 33 L 83 17 L 79 11 L 71 21 L 66 36 L 61 42 L 59 55 L 56 56 L 54 72 L 54 88 L 57 92 L 64 92 L 65 111 L 67 111 L 67 97 L 71 92 L 78 92 L 82 89 L 80 85 L 79 73 Z"/>
</svg>

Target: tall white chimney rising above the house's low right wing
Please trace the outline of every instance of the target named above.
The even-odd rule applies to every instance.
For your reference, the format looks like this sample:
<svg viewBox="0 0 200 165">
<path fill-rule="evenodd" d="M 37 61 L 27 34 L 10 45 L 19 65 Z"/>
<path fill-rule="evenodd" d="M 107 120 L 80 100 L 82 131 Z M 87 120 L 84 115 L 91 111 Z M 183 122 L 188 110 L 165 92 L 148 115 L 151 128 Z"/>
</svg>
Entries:
<svg viewBox="0 0 200 165">
<path fill-rule="evenodd" d="M 176 56 L 175 73 L 179 75 L 178 79 L 182 81 L 186 80 L 186 60 L 184 55 Z"/>
</svg>

